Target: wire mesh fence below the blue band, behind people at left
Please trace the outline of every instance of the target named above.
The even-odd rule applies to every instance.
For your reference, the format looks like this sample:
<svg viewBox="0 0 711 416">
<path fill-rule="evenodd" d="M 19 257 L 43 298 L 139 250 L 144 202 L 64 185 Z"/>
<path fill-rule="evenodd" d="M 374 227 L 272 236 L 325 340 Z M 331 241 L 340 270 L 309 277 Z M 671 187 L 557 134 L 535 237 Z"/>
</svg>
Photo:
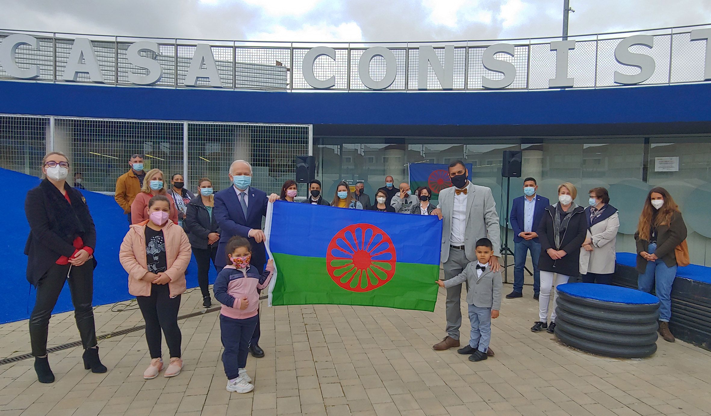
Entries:
<svg viewBox="0 0 711 416">
<path fill-rule="evenodd" d="M 191 191 L 201 177 L 209 177 L 216 190 L 228 187 L 232 161 L 247 160 L 254 169 L 252 186 L 279 192 L 285 180 L 294 179 L 296 155 L 311 153 L 311 131 L 309 126 L 289 124 L 0 114 L 0 168 L 39 175 L 49 150 L 70 159 L 70 183 L 95 192 L 114 193 L 132 154 L 144 155 L 144 170 L 160 169 L 166 180 L 176 173 L 186 175 Z"/>
</svg>

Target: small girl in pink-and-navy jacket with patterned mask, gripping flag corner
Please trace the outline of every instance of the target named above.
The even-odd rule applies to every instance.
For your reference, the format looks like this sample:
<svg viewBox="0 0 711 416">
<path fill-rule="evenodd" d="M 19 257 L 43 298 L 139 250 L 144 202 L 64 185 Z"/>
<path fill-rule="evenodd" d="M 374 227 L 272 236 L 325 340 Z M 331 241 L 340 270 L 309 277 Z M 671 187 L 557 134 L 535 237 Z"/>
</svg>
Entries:
<svg viewBox="0 0 711 416">
<path fill-rule="evenodd" d="M 247 376 L 247 351 L 257 326 L 260 295 L 257 289 L 269 285 L 274 266 L 269 260 L 264 273 L 250 265 L 252 246 L 244 237 L 234 236 L 225 247 L 228 266 L 215 279 L 215 299 L 222 304 L 220 334 L 225 351 L 223 366 L 227 375 L 227 390 L 249 393 L 254 390 L 252 378 Z"/>
</svg>

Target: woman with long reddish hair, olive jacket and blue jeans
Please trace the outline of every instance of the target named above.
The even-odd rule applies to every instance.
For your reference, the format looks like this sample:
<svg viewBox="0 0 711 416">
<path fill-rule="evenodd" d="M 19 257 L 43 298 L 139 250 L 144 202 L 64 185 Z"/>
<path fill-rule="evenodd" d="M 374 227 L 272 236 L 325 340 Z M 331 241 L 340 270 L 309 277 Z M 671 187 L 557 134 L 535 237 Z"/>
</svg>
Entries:
<svg viewBox="0 0 711 416">
<path fill-rule="evenodd" d="M 663 187 L 653 187 L 642 208 L 634 239 L 637 242 L 637 288 L 659 298 L 659 334 L 674 342 L 669 331 L 671 287 L 676 278 L 675 248 L 686 239 L 679 207 Z"/>
</svg>

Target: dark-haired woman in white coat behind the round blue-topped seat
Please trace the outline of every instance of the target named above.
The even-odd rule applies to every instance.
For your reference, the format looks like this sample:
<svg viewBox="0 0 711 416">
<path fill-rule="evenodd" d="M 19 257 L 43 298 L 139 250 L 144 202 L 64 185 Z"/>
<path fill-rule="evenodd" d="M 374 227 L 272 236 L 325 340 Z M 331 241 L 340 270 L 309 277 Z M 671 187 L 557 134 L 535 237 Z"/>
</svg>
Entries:
<svg viewBox="0 0 711 416">
<path fill-rule="evenodd" d="M 580 274 L 584 283 L 610 285 L 615 272 L 615 243 L 620 227 L 617 209 L 609 204 L 610 197 L 604 187 L 589 192 L 587 236 L 580 248 Z"/>
</svg>

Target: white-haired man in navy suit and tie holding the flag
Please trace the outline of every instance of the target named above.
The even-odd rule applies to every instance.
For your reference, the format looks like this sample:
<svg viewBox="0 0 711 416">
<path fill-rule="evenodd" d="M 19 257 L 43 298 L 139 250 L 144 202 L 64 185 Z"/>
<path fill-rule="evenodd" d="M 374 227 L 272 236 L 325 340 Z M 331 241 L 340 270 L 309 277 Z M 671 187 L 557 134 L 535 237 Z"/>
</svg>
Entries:
<svg viewBox="0 0 711 416">
<path fill-rule="evenodd" d="M 233 236 L 242 236 L 252 243 L 252 266 L 262 273 L 267 264 L 267 250 L 264 248 L 264 231 L 262 217 L 267 215 L 267 202 L 277 199 L 278 195 L 270 195 L 251 187 L 252 166 L 245 160 L 235 160 L 230 165 L 230 182 L 232 186 L 215 194 L 215 220 L 220 226 L 220 241 L 215 266 L 227 265 L 225 246 Z M 259 346 L 260 322 L 250 341 L 250 352 L 257 358 L 264 356 Z"/>
</svg>

